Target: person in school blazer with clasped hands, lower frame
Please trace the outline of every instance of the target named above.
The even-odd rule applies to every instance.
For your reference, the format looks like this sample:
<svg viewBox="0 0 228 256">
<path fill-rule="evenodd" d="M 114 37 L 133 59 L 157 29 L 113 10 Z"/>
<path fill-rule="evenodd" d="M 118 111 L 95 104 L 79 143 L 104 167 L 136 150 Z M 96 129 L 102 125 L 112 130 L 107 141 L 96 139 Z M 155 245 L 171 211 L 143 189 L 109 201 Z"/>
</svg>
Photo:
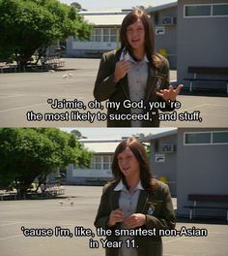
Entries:
<svg viewBox="0 0 228 256">
<path fill-rule="evenodd" d="M 175 216 L 168 186 L 152 177 L 144 146 L 133 138 L 119 144 L 112 173 L 95 226 L 110 229 L 107 240 L 121 246 L 105 248 L 106 256 L 161 256 L 159 229 L 175 228 Z"/>
</svg>

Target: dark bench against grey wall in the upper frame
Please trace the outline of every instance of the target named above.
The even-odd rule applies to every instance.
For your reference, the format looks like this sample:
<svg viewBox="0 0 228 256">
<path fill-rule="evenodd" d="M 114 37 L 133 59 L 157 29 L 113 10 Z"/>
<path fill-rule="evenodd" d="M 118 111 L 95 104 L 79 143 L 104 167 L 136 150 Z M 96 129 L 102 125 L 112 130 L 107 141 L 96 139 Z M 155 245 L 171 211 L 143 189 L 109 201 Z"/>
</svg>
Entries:
<svg viewBox="0 0 228 256">
<path fill-rule="evenodd" d="M 228 67 L 188 67 L 187 72 L 193 74 L 192 78 L 185 78 L 183 80 L 188 80 L 190 82 L 189 91 L 192 92 L 193 86 L 196 85 L 196 81 L 208 81 L 208 82 L 225 82 L 226 83 L 226 93 L 228 93 Z M 227 76 L 225 79 L 204 79 L 200 78 L 200 75 L 221 75 Z"/>
</svg>

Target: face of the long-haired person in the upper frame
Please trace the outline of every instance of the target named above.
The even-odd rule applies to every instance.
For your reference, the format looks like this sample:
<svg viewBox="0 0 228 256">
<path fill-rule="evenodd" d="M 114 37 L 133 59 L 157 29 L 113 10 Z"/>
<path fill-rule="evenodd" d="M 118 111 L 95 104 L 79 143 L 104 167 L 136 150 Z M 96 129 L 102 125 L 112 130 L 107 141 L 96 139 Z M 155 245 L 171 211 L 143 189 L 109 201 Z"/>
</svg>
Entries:
<svg viewBox="0 0 228 256">
<path fill-rule="evenodd" d="M 131 25 L 128 25 L 127 39 L 129 46 L 133 50 L 144 49 L 145 29 L 142 21 L 139 18 Z"/>
</svg>

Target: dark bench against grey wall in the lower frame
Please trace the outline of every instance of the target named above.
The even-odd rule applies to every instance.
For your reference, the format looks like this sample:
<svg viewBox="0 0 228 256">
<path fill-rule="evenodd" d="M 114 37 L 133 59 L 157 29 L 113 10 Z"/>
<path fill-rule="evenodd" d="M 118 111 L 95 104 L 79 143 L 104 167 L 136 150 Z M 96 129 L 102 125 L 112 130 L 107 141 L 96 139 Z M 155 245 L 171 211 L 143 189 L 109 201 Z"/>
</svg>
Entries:
<svg viewBox="0 0 228 256">
<path fill-rule="evenodd" d="M 193 202 L 191 206 L 185 206 L 184 208 L 189 208 L 189 219 L 192 219 L 192 213 L 197 208 L 210 208 L 210 209 L 224 209 L 226 210 L 226 221 L 228 221 L 228 205 L 227 207 L 216 207 L 216 206 L 199 206 L 199 202 L 219 202 L 228 203 L 228 195 L 207 195 L 207 194 L 189 194 L 187 200 Z"/>
</svg>

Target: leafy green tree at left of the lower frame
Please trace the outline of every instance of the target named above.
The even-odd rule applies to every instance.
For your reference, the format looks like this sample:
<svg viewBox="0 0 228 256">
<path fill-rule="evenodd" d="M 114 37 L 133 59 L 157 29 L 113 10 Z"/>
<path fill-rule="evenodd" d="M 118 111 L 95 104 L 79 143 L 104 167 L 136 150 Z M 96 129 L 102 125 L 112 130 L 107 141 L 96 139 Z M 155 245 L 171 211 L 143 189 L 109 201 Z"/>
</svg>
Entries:
<svg viewBox="0 0 228 256">
<path fill-rule="evenodd" d="M 57 128 L 0 128 L 0 185 L 24 195 L 57 167 L 91 165 L 92 154 Z"/>
</svg>

